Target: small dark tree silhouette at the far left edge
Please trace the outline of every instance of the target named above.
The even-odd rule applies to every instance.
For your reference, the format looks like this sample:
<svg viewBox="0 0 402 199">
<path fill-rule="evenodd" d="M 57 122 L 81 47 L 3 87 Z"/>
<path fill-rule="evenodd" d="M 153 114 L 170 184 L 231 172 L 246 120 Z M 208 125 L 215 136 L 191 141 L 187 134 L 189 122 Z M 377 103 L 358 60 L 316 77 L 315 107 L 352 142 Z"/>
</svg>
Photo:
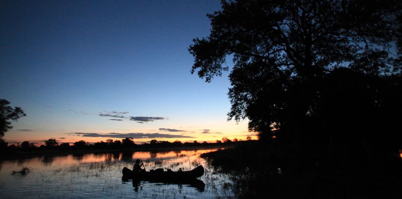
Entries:
<svg viewBox="0 0 402 199">
<path fill-rule="evenodd" d="M 4 133 L 12 129 L 11 120 L 17 121 L 20 117 L 26 116 L 22 108 L 9 106 L 9 101 L 0 99 L 0 138 Z"/>
</svg>

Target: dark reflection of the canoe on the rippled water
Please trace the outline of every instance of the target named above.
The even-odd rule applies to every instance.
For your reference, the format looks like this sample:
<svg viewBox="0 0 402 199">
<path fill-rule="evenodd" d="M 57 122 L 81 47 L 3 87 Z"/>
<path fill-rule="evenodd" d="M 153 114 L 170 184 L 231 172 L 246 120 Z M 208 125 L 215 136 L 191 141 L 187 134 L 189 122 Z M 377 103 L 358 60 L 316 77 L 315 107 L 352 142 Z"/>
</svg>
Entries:
<svg viewBox="0 0 402 199">
<path fill-rule="evenodd" d="M 133 187 L 134 191 L 138 192 L 139 189 L 142 189 L 144 183 L 155 183 L 154 185 L 179 185 L 180 187 L 193 187 L 196 188 L 197 191 L 203 192 L 205 190 L 205 184 L 202 180 L 199 179 L 186 179 L 186 180 L 151 180 L 151 181 L 144 181 L 144 180 L 133 180 Z"/>
</svg>

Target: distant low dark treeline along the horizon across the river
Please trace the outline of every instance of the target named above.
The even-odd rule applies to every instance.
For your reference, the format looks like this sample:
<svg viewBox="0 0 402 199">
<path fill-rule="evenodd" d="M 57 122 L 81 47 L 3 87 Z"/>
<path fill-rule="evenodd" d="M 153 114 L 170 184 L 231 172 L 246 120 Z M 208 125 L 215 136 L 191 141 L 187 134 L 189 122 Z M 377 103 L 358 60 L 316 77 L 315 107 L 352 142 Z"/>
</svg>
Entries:
<svg viewBox="0 0 402 199">
<path fill-rule="evenodd" d="M 24 141 L 18 145 L 8 145 L 8 143 L 4 143 L 2 146 L 2 150 L 19 150 L 19 151 L 35 151 L 35 150 L 79 150 L 79 149 L 161 149 L 161 148 L 177 148 L 177 147 L 199 147 L 199 146 L 216 146 L 216 145 L 225 145 L 232 143 L 240 143 L 242 141 L 238 141 L 236 138 L 234 141 L 229 140 L 228 138 L 222 138 L 217 140 L 215 143 L 207 143 L 202 142 L 199 143 L 197 141 L 193 142 L 185 142 L 181 141 L 157 141 L 151 140 L 149 143 L 142 143 L 137 145 L 134 143 L 133 138 L 125 138 L 123 140 L 112 140 L 107 139 L 106 142 L 97 142 L 97 143 L 87 143 L 83 140 L 77 141 L 75 143 L 61 143 L 59 144 L 55 139 L 46 140 L 44 145 L 36 146 L 33 143 L 29 143 L 28 141 Z M 251 137 L 247 139 L 251 140 Z"/>
</svg>

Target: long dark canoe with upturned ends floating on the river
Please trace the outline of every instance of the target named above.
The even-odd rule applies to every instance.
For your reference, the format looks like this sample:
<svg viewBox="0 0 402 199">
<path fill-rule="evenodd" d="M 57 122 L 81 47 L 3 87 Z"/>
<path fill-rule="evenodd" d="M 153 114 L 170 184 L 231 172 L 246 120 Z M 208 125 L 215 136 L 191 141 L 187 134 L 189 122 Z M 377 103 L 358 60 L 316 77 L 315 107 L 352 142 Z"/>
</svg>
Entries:
<svg viewBox="0 0 402 199">
<path fill-rule="evenodd" d="M 134 172 L 131 169 L 123 168 L 123 179 L 141 180 L 186 180 L 195 179 L 204 175 L 204 167 L 201 165 L 190 171 L 144 171 Z"/>
</svg>

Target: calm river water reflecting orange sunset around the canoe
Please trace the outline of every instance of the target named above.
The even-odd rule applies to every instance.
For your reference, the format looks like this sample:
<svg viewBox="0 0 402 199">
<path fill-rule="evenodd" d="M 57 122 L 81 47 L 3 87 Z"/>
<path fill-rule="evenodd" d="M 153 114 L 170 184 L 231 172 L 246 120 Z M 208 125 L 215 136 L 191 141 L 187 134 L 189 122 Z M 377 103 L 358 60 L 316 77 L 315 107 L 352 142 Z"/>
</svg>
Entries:
<svg viewBox="0 0 402 199">
<path fill-rule="evenodd" d="M 215 172 L 200 157 L 214 150 L 88 153 L 1 161 L 0 198 L 233 198 L 230 178 Z M 123 167 L 132 169 L 137 158 L 147 170 L 187 171 L 202 165 L 205 173 L 195 184 L 123 181 Z M 13 174 L 24 167 L 29 168 L 27 173 Z"/>
</svg>

